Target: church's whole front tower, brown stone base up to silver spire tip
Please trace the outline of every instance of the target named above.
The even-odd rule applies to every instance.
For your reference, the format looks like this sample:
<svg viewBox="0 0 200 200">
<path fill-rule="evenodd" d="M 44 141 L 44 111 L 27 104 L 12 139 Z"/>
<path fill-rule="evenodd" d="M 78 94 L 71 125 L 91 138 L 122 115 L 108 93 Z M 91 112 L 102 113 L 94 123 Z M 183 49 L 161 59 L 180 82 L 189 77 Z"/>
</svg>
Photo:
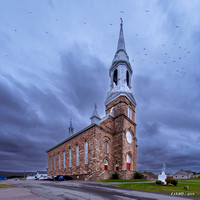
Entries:
<svg viewBox="0 0 200 200">
<path fill-rule="evenodd" d="M 121 19 L 117 51 L 109 69 L 110 90 L 105 100 L 106 114 L 112 112 L 114 121 L 114 170 L 136 170 L 137 139 L 135 124 L 136 101 L 131 91 L 133 71 L 126 53 L 123 21 Z"/>
</svg>

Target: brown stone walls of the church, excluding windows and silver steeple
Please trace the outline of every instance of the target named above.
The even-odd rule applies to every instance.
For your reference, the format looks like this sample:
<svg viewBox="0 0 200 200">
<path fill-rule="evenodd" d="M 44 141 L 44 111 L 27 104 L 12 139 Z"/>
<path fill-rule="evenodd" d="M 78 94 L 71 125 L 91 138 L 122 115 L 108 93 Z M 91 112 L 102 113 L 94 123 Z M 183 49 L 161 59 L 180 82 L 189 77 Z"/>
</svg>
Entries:
<svg viewBox="0 0 200 200">
<path fill-rule="evenodd" d="M 48 175 L 70 175 L 74 178 L 87 179 L 96 172 L 96 174 L 93 175 L 95 179 L 105 179 L 111 177 L 112 173 L 117 170 L 121 177 L 131 178 L 130 171 L 132 172 L 131 174 L 133 174 L 136 170 L 137 145 L 136 124 L 127 116 L 128 106 L 133 109 L 132 119 L 134 119 L 134 106 L 130 105 L 127 97 L 121 96 L 106 107 L 106 113 L 109 113 L 111 107 L 114 108 L 113 117 L 109 116 L 102 121 L 100 125 L 90 125 L 71 138 L 50 149 L 48 151 Z M 127 131 L 132 134 L 133 140 L 131 143 L 128 143 L 126 139 Z M 88 144 L 88 164 L 85 164 L 86 141 Z M 108 143 L 107 152 L 105 146 L 106 142 Z M 78 166 L 76 163 L 77 145 L 79 149 Z M 71 167 L 69 165 L 70 149 Z M 131 158 L 130 170 L 127 170 L 127 154 L 129 154 Z M 65 166 L 63 163 L 63 156 L 65 156 Z M 108 162 L 107 170 L 104 170 L 105 160 Z M 89 180 L 92 180 L 93 176 L 91 176 Z"/>
</svg>

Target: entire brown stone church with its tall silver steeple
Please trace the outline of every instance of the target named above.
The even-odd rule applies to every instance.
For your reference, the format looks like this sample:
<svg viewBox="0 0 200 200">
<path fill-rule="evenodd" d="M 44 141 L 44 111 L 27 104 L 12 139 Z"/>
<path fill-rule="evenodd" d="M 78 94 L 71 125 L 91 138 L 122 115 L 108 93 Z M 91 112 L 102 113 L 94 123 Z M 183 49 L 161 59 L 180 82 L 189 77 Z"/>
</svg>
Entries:
<svg viewBox="0 0 200 200">
<path fill-rule="evenodd" d="M 133 177 L 137 164 L 137 138 L 132 73 L 121 22 L 117 51 L 109 69 L 106 115 L 100 118 L 95 105 L 91 124 L 75 134 L 70 122 L 71 135 L 47 151 L 49 176 L 100 180 L 110 178 L 117 171 L 119 178 Z"/>
</svg>

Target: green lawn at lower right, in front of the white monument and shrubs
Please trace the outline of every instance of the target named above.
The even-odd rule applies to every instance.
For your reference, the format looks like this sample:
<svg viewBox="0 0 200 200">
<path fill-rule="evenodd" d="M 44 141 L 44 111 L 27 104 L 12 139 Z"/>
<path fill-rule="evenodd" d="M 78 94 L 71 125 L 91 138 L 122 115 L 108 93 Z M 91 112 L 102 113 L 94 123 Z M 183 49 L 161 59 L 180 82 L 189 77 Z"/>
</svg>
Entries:
<svg viewBox="0 0 200 200">
<path fill-rule="evenodd" d="M 189 186 L 189 190 L 184 189 L 184 186 L 186 185 Z M 126 183 L 119 184 L 117 185 L 117 187 L 144 190 L 150 192 L 168 193 L 172 196 L 200 197 L 200 185 L 198 183 L 178 183 L 178 185 L 174 187 L 159 186 L 155 185 L 155 183 Z"/>
</svg>

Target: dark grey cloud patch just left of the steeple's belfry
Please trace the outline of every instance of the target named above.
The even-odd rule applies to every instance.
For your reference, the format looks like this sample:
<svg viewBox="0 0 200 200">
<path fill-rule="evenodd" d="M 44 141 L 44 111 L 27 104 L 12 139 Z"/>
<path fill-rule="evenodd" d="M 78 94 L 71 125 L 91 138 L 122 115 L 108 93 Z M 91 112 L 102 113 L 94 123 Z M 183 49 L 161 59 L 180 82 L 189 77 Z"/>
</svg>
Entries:
<svg viewBox="0 0 200 200">
<path fill-rule="evenodd" d="M 102 107 L 108 90 L 108 68 L 97 57 L 87 53 L 87 47 L 75 45 L 70 51 L 63 52 L 61 70 L 58 88 L 80 115 L 88 115 L 90 110 L 92 114 L 94 103 Z"/>
</svg>

